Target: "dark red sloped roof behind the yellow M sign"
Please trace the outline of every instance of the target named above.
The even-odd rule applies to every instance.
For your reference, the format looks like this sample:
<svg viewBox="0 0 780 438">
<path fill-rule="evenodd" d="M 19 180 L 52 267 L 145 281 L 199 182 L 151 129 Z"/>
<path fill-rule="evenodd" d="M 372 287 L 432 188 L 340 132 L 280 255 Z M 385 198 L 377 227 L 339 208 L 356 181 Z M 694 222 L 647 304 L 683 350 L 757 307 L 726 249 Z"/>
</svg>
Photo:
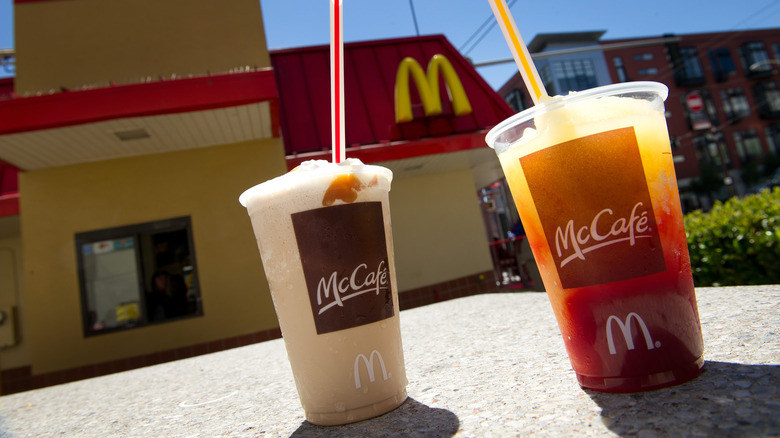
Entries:
<svg viewBox="0 0 780 438">
<path fill-rule="evenodd" d="M 309 158 L 327 158 L 327 151 L 331 149 L 328 53 L 329 46 L 325 45 L 271 51 L 288 167 L 303 161 L 301 154 Z M 454 115 L 442 80 L 441 115 L 425 117 L 416 87 L 412 86 L 414 120 L 396 123 L 395 80 L 401 60 L 412 57 L 425 68 L 435 54 L 444 55 L 452 64 L 473 111 Z M 443 35 L 345 44 L 344 82 L 345 137 L 346 145 L 352 148 L 349 156 L 373 157 L 372 161 L 414 156 L 431 145 L 438 146 L 433 146 L 430 153 L 483 147 L 484 140 L 474 144 L 472 135 L 514 114 Z M 484 133 L 481 135 L 484 138 Z M 452 142 L 446 145 L 448 138 Z M 415 142 L 417 146 L 410 146 L 409 142 Z"/>
</svg>

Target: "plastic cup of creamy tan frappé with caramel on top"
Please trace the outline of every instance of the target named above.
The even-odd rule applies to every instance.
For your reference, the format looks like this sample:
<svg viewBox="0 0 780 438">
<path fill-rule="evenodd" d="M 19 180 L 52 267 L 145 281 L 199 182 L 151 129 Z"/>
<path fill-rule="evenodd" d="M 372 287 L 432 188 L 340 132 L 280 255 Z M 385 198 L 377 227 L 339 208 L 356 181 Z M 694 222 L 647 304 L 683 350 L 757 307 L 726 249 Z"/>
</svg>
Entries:
<svg viewBox="0 0 780 438">
<path fill-rule="evenodd" d="M 309 161 L 239 198 L 315 424 L 375 417 L 406 399 L 391 180 L 359 160 Z"/>
</svg>

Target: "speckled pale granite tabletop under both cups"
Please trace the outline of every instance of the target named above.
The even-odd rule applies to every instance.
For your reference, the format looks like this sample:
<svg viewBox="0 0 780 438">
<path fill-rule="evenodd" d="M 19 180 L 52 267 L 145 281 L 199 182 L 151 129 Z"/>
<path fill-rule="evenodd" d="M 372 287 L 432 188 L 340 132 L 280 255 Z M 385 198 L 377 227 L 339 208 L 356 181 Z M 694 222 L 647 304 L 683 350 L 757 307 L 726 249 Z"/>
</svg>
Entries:
<svg viewBox="0 0 780 438">
<path fill-rule="evenodd" d="M 401 312 L 409 399 L 345 426 L 303 419 L 281 339 L 0 397 L 0 436 L 780 436 L 780 286 L 699 288 L 705 372 L 581 389 L 544 293 Z"/>
</svg>

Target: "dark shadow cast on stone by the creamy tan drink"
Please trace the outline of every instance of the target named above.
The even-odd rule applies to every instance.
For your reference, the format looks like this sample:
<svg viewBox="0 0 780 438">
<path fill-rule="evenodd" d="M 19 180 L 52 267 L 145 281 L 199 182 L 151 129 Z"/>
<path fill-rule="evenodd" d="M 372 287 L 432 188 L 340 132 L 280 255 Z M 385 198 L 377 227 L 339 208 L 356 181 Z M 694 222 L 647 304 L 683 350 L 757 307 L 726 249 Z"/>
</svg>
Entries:
<svg viewBox="0 0 780 438">
<path fill-rule="evenodd" d="M 304 421 L 293 437 L 451 437 L 460 427 L 446 409 L 430 408 L 409 397 L 398 408 L 376 418 L 343 426 L 317 426 Z"/>
</svg>

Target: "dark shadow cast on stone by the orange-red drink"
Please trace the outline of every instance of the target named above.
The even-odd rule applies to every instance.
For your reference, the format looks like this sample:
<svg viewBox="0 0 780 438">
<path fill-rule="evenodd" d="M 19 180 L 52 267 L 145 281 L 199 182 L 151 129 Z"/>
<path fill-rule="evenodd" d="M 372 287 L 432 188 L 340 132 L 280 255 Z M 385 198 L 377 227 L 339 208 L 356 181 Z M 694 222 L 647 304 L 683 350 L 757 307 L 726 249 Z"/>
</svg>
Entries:
<svg viewBox="0 0 780 438">
<path fill-rule="evenodd" d="M 585 392 L 620 436 L 780 435 L 780 365 L 708 361 L 699 377 L 671 388 Z"/>
</svg>

